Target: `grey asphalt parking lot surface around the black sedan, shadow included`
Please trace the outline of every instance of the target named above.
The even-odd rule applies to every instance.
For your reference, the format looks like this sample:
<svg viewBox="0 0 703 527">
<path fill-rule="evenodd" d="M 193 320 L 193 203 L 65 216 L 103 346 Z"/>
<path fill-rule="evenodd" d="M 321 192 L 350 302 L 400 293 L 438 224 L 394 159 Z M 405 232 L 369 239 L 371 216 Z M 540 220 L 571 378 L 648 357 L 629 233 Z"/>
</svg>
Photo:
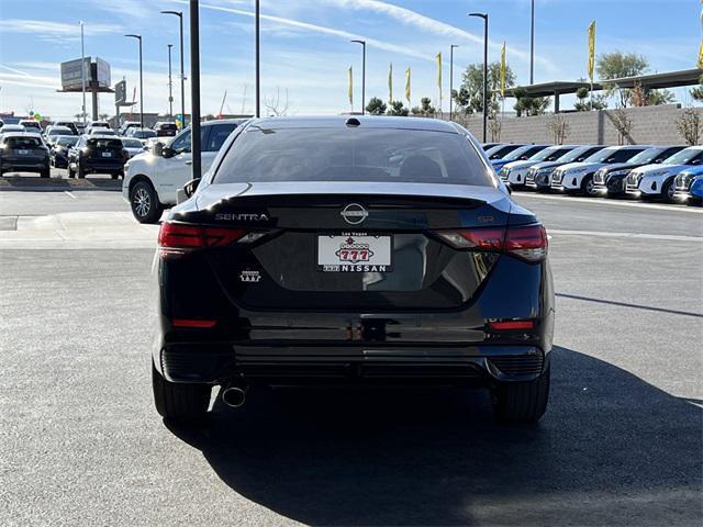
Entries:
<svg viewBox="0 0 703 527">
<path fill-rule="evenodd" d="M 263 390 L 186 430 L 152 403 L 157 228 L 114 191 L 0 192 L 0 525 L 700 525 L 702 211 L 515 197 L 551 236 L 538 425 L 482 392 Z"/>
</svg>

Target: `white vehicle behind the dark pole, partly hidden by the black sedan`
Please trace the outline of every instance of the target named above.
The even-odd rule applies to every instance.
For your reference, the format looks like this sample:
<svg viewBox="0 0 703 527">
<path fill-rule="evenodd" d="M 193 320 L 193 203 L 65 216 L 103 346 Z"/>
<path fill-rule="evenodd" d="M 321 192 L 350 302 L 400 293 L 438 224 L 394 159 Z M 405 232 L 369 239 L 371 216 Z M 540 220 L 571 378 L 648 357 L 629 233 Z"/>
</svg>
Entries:
<svg viewBox="0 0 703 527">
<path fill-rule="evenodd" d="M 246 119 L 209 121 L 200 126 L 201 171 L 205 173 L 230 134 Z M 190 127 L 163 148 L 156 146 L 124 166 L 122 195 L 140 223 L 156 223 L 165 208 L 176 204 L 177 191 L 192 179 Z"/>
</svg>

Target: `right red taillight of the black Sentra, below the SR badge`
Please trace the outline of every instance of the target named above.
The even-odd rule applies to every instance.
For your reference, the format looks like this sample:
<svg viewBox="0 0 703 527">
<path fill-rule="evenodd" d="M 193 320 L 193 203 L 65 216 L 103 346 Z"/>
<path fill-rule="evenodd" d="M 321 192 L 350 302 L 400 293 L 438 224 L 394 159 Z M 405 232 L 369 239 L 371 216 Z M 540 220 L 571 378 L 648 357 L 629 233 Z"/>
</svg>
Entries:
<svg viewBox="0 0 703 527">
<path fill-rule="evenodd" d="M 527 261 L 540 261 L 547 256 L 547 232 L 540 224 L 438 231 L 437 234 L 457 249 L 504 251 Z"/>
</svg>

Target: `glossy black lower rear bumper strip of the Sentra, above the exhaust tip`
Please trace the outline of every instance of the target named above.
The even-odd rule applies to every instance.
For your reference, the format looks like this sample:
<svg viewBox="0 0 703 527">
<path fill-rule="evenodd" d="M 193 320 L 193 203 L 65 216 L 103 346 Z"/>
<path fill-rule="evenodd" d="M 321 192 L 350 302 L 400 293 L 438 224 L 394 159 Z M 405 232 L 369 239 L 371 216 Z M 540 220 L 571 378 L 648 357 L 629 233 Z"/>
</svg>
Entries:
<svg viewBox="0 0 703 527">
<path fill-rule="evenodd" d="M 245 346 L 190 343 L 160 349 L 171 382 L 265 384 L 489 384 L 537 378 L 548 360 L 538 346 Z"/>
</svg>

